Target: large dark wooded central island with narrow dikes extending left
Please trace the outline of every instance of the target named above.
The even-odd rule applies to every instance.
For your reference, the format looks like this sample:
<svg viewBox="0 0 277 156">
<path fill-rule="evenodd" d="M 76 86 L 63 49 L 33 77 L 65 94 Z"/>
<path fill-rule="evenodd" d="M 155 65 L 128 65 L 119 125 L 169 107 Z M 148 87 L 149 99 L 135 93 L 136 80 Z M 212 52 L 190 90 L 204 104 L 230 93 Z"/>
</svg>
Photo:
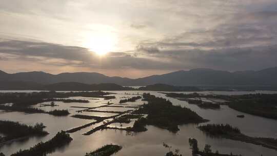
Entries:
<svg viewBox="0 0 277 156">
<path fill-rule="evenodd" d="M 208 121 L 188 108 L 172 105 L 170 101 L 163 99 L 162 97 L 155 97 L 154 95 L 151 95 L 149 93 L 144 93 L 143 101 L 147 101 L 148 104 L 141 105 L 138 107 L 138 109 L 134 111 L 128 110 L 122 112 L 121 114 L 113 115 L 110 117 L 101 117 L 101 119 L 97 119 L 95 118 L 95 116 L 89 115 L 73 115 L 72 117 L 74 118 L 93 119 L 96 120 L 96 122 L 74 128 L 72 130 L 69 130 L 68 132 L 74 132 L 76 130 L 80 130 L 84 127 L 90 126 L 91 124 L 102 122 L 106 118 L 110 120 L 104 121 L 103 125 L 91 129 L 90 131 L 84 133 L 84 135 L 90 135 L 98 130 L 103 129 L 118 129 L 126 130 L 127 132 L 142 132 L 147 130 L 147 128 L 145 127 L 146 125 L 153 125 L 175 133 L 179 131 L 178 125 L 188 123 L 197 124 Z M 146 114 L 147 116 L 146 118 L 144 118 L 143 116 L 145 116 Z M 132 127 L 117 128 L 109 126 L 112 123 L 130 123 L 131 119 L 137 119 Z"/>
</svg>

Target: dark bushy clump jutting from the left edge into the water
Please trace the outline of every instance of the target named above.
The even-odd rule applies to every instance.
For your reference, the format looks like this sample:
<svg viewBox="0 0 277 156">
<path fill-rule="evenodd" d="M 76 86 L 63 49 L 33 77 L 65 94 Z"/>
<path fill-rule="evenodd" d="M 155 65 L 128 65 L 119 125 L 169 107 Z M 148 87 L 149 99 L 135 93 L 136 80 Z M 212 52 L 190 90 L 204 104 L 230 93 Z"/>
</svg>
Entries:
<svg viewBox="0 0 277 156">
<path fill-rule="evenodd" d="M 0 121 L 0 132 L 5 134 L 5 136 L 0 139 L 0 143 L 24 136 L 46 135 L 48 132 L 44 131 L 45 127 L 43 123 L 28 126 L 19 124 L 18 122 Z"/>
</svg>

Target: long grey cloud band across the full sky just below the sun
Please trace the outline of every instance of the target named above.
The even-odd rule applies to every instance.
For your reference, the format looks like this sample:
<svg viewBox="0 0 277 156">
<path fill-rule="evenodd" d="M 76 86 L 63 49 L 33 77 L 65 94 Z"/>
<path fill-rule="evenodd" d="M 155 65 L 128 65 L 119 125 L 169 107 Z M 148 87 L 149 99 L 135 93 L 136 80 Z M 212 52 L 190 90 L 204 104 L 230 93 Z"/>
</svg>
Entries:
<svg viewBox="0 0 277 156">
<path fill-rule="evenodd" d="M 220 70 L 248 70 L 277 66 L 276 45 L 212 50 L 171 49 L 159 51 L 155 50 L 154 47 L 150 50 L 140 47 L 137 49 L 148 50 L 148 53 L 144 52 L 146 54 L 144 57 L 138 57 L 130 52 L 111 52 L 101 59 L 85 48 L 50 43 L 6 41 L 1 42 L 0 46 L 0 53 L 17 56 L 15 61 L 91 69 L 181 70 L 206 67 Z"/>
</svg>

